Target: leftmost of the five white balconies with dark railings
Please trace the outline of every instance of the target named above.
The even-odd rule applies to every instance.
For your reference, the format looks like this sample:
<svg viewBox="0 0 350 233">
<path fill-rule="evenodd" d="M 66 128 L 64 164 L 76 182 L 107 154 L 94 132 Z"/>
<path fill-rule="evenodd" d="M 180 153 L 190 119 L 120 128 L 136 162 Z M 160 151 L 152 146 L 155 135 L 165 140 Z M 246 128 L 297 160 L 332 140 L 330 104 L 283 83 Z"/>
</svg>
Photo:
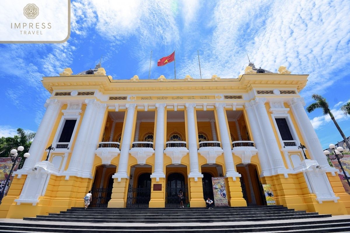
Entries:
<svg viewBox="0 0 350 233">
<path fill-rule="evenodd" d="M 114 141 L 104 141 L 98 143 L 98 148 L 95 151 L 96 155 L 102 159 L 102 164 L 110 165 L 112 159 L 120 154 L 120 143 Z"/>
</svg>

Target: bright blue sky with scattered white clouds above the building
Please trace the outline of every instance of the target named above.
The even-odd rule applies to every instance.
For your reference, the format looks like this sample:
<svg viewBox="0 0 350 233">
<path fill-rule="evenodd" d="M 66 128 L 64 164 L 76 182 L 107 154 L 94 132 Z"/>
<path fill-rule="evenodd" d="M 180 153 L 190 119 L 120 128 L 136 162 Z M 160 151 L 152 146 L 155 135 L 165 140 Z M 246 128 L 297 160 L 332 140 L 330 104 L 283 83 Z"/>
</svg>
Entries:
<svg viewBox="0 0 350 233">
<path fill-rule="evenodd" d="M 73 74 L 102 66 L 113 79 L 174 78 L 173 63 L 157 67 L 175 52 L 176 78 L 216 74 L 238 78 L 248 65 L 309 74 L 300 93 L 324 96 L 345 136 L 350 116 L 339 108 L 350 100 L 350 1 L 72 0 L 71 36 L 62 44 L 0 44 L 0 137 L 17 128 L 36 131 L 50 94 L 44 76 L 66 67 Z M 306 107 L 306 106 L 305 106 Z M 342 138 L 329 116 L 308 114 L 323 148 Z"/>
</svg>

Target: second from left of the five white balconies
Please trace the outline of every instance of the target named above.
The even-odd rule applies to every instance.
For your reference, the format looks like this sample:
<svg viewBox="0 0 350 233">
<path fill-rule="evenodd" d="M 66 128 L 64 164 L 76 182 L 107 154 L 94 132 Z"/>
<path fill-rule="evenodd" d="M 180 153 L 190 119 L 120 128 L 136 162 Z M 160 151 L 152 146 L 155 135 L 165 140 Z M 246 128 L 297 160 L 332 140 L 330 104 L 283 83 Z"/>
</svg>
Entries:
<svg viewBox="0 0 350 233">
<path fill-rule="evenodd" d="M 154 154 L 153 142 L 134 141 L 129 153 L 137 159 L 139 165 L 145 165 L 146 160 Z"/>
</svg>

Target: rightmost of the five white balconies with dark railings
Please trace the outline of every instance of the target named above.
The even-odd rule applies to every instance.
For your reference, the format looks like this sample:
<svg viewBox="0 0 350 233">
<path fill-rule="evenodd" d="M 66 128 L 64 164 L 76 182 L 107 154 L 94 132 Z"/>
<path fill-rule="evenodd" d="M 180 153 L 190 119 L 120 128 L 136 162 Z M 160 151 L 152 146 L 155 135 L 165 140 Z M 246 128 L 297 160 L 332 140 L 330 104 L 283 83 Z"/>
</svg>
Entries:
<svg viewBox="0 0 350 233">
<path fill-rule="evenodd" d="M 233 141 L 232 147 L 232 153 L 241 158 L 243 164 L 250 163 L 252 156 L 258 153 L 254 141 Z"/>
</svg>

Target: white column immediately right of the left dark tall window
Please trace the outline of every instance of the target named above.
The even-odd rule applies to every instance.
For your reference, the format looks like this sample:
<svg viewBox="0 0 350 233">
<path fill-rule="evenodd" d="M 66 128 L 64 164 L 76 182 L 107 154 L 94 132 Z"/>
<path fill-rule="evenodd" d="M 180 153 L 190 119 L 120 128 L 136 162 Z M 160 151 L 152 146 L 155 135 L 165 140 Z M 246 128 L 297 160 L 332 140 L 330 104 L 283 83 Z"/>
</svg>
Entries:
<svg viewBox="0 0 350 233">
<path fill-rule="evenodd" d="M 90 135 L 91 131 L 91 121 L 92 116 L 95 110 L 95 102 L 96 100 L 87 99 L 85 100 L 86 109 L 84 112 L 82 123 L 80 124 L 79 132 L 77 139 L 75 141 L 75 145 L 73 147 L 73 152 L 70 158 L 69 166 L 67 169 L 67 173 L 76 173 L 78 172 L 82 162 L 84 161 L 84 150 L 86 148 L 86 140 Z"/>
</svg>

